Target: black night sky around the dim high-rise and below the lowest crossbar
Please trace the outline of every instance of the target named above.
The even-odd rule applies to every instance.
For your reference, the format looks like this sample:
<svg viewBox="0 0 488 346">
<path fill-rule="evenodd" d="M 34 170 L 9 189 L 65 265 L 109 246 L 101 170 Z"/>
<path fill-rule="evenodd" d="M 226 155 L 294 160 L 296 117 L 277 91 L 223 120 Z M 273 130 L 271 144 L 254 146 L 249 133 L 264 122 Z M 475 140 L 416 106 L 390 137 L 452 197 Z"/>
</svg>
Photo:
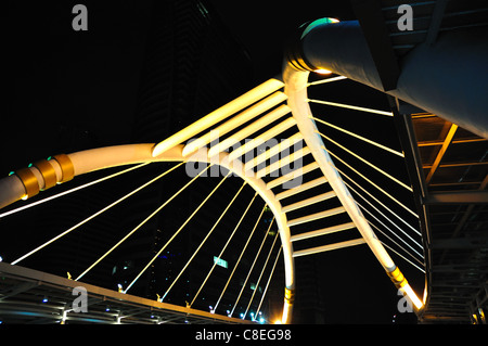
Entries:
<svg viewBox="0 0 488 346">
<path fill-rule="evenodd" d="M 285 40 L 300 24 L 323 16 L 354 18 L 348 1 L 211 2 L 249 52 L 256 85 L 280 73 Z M 2 176 L 57 153 L 63 136 L 73 136 L 74 150 L 87 130 L 99 146 L 129 142 L 151 2 L 81 1 L 89 10 L 88 33 L 70 27 L 77 2 L 56 3 L 15 2 L 8 11 L 3 84 L 12 94 L 1 114 Z M 66 134 L 66 127 L 79 132 Z M 317 258 L 326 321 L 390 321 L 396 290 L 367 247 Z"/>
</svg>

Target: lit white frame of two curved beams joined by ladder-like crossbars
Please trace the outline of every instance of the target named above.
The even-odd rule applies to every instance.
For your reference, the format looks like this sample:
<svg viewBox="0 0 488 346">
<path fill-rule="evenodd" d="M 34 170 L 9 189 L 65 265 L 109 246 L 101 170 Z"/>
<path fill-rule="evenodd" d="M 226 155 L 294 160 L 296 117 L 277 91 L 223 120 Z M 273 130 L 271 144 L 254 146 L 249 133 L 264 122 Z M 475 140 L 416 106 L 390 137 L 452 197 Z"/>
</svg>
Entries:
<svg viewBox="0 0 488 346">
<path fill-rule="evenodd" d="M 295 257 L 363 243 L 370 246 L 393 281 L 398 286 L 401 286 L 412 298 L 415 306 L 420 308 L 422 303 L 416 298 L 416 295 L 402 278 L 395 262 L 374 234 L 325 150 L 325 145 L 311 118 L 307 99 L 308 75 L 308 72 L 298 72 L 287 66 L 283 74 L 284 81 L 272 78 L 157 144 L 128 144 L 100 148 L 68 155 L 54 156 L 53 159 L 46 161 L 42 164 L 35 164 L 29 168 L 11 175 L 0 182 L 3 192 L 2 204 L 7 205 L 16 200 L 30 196 L 30 194 L 36 194 L 38 190 L 44 190 L 47 187 L 53 185 L 53 182 L 50 183 L 50 181 L 62 182 L 75 176 L 108 167 L 146 164 L 151 162 L 217 163 L 247 182 L 260 195 L 274 215 L 280 231 L 285 268 L 285 299 L 282 322 L 288 322 L 291 317 L 295 290 Z M 280 91 L 283 88 L 284 90 Z M 283 104 L 285 100 L 287 100 L 287 103 Z M 274 110 L 264 115 L 265 112 L 273 106 L 275 106 Z M 273 121 L 279 121 L 279 124 L 264 133 L 256 134 L 266 125 Z M 218 131 L 218 134 L 222 136 L 246 123 L 249 124 L 239 129 L 236 133 L 220 141 L 218 145 L 210 146 L 210 149 L 207 148 L 207 144 L 213 140 L 211 131 Z M 292 142 L 283 142 L 284 145 L 270 148 L 261 156 L 254 157 L 248 163 L 241 161 L 241 156 L 246 152 L 254 150 L 271 138 L 280 136 L 281 132 L 293 126 L 296 126 L 297 132 L 290 137 Z M 195 136 L 196 140 L 189 141 Z M 242 140 L 249 138 L 252 141 L 247 141 L 246 144 L 237 146 L 230 154 L 227 152 L 230 146 L 236 145 Z M 269 158 L 272 155 L 282 153 L 282 151 L 287 150 L 293 143 L 299 140 L 304 140 L 305 142 L 305 148 L 300 151 L 288 156 L 281 155 L 281 159 L 270 163 L 257 171 L 253 170 L 259 163 L 266 163 L 267 157 Z M 312 164 L 281 175 L 268 182 L 265 182 L 262 179 L 283 165 L 307 154 L 312 155 Z M 293 189 L 279 193 L 273 192 L 273 188 L 318 168 L 322 171 L 322 177 Z M 332 191 L 303 198 L 293 204 L 282 204 L 286 197 L 297 195 L 303 191 L 325 183 L 331 185 Z M 296 219 L 288 219 L 287 217 L 287 213 L 292 210 L 306 209 L 309 205 L 333 197 L 337 197 L 341 201 L 341 207 L 311 215 L 307 215 L 306 213 L 305 216 Z M 352 222 L 336 225 L 322 230 L 311 230 L 297 234 L 294 238 L 291 235 L 290 228 L 293 226 L 341 213 L 347 213 Z M 293 249 L 292 242 L 352 228 L 359 230 L 362 236 L 361 239 L 326 244 L 299 252 L 294 252 Z"/>
</svg>

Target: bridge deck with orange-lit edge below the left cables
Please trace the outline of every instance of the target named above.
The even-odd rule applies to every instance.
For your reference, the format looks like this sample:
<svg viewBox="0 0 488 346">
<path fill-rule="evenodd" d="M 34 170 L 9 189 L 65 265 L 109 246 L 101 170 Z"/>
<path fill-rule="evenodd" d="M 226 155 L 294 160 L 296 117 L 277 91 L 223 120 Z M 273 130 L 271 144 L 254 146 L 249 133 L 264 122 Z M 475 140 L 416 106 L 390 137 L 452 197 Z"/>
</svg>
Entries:
<svg viewBox="0 0 488 346">
<path fill-rule="evenodd" d="M 9 324 L 51 324 L 64 321 L 85 324 L 254 323 L 141 298 L 4 262 L 0 262 L 0 316 L 2 322 Z M 86 312 L 73 310 L 74 300 L 81 297 L 73 294 L 73 290 L 78 286 L 87 290 Z M 81 306 L 75 303 L 75 307 Z"/>
</svg>

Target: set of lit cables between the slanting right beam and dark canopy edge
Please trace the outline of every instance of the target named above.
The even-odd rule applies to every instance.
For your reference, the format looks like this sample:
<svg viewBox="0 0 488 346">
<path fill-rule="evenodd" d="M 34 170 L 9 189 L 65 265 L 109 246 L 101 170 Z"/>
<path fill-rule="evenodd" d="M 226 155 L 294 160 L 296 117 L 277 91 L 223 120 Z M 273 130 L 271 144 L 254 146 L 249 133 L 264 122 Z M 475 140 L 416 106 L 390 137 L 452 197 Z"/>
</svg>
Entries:
<svg viewBox="0 0 488 346">
<path fill-rule="evenodd" d="M 309 82 L 308 87 L 314 88 L 314 86 L 323 86 L 329 81 L 343 79 L 345 78 L 320 79 Z M 321 90 L 321 94 L 326 94 L 326 91 Z M 419 271 L 425 272 L 419 216 L 409 206 L 413 204 L 412 188 L 408 181 L 404 181 L 407 175 L 399 178 L 390 172 L 391 165 L 395 166 L 396 172 L 399 170 L 398 167 L 406 167 L 403 152 L 391 148 L 398 143 L 382 143 L 357 130 L 358 128 L 371 129 L 375 124 L 374 116 L 390 118 L 393 113 L 317 99 L 308 99 L 308 102 L 313 114 L 310 115 L 310 118 L 316 123 L 318 129 L 317 134 L 323 139 L 325 144 L 322 149 L 333 157 L 336 170 L 355 196 L 357 205 L 364 213 L 370 226 L 384 239 L 382 244 Z M 338 119 L 337 116 L 334 116 L 335 114 L 345 116 L 336 108 L 352 111 L 346 111 L 347 124 L 354 124 L 356 130 L 347 128 L 346 125 L 335 124 Z M 364 113 L 371 114 L 371 116 L 364 116 Z M 358 125 L 362 124 L 361 121 L 363 121 L 362 127 Z M 385 126 L 385 121 L 383 118 L 377 123 L 378 133 L 376 137 L 382 137 L 380 131 L 388 131 L 387 126 L 390 126 L 389 131 L 395 131 L 394 124 Z M 372 158 L 375 163 L 372 162 Z M 382 165 L 380 166 L 376 162 Z M 406 171 L 406 169 L 402 170 Z M 398 189 L 393 189 L 389 182 L 403 191 L 398 192 Z"/>
</svg>

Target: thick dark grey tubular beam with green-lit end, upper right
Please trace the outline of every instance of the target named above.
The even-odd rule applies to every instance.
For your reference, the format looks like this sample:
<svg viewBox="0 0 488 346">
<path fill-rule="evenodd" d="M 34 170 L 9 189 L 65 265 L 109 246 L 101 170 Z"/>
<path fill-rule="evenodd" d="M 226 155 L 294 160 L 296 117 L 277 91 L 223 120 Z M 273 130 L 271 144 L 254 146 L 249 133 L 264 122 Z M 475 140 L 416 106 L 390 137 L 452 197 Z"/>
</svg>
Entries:
<svg viewBox="0 0 488 346">
<path fill-rule="evenodd" d="M 410 46 L 406 42 L 398 56 L 388 35 L 408 31 L 400 31 L 394 23 L 384 31 L 368 18 L 314 21 L 303 27 L 299 47 L 293 48 L 295 59 L 307 69 L 325 68 L 346 76 L 488 138 L 488 26 L 445 29 L 435 40 L 414 42 L 407 52 L 404 47 Z M 364 30 L 369 25 L 372 30 Z M 387 30 L 386 25 L 383 28 Z M 381 46 L 384 33 L 387 39 Z"/>
</svg>

